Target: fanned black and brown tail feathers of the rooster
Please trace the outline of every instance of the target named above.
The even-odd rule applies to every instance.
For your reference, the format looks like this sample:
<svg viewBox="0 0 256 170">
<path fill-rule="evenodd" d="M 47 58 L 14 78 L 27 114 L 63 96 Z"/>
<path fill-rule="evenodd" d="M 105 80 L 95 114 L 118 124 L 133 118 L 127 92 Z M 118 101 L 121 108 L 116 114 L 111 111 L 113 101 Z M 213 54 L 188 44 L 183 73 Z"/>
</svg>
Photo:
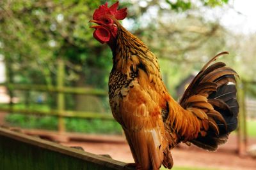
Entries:
<svg viewBox="0 0 256 170">
<path fill-rule="evenodd" d="M 198 138 L 191 141 L 194 145 L 210 151 L 216 150 L 218 145 L 225 143 L 228 134 L 237 128 L 239 106 L 236 99 L 235 76 L 238 75 L 223 62 L 216 62 L 210 66 L 211 62 L 223 54 L 227 54 L 227 52 L 219 53 L 205 64 L 180 100 L 180 105 L 186 106 L 186 99 L 202 95 L 207 97 L 208 103 L 216 111 L 216 114 L 205 113 L 209 122 L 211 122 L 210 119 L 214 120 L 214 125 L 218 126 L 218 133 L 216 133 L 216 128 L 210 126 L 205 136 L 198 135 Z"/>
</svg>

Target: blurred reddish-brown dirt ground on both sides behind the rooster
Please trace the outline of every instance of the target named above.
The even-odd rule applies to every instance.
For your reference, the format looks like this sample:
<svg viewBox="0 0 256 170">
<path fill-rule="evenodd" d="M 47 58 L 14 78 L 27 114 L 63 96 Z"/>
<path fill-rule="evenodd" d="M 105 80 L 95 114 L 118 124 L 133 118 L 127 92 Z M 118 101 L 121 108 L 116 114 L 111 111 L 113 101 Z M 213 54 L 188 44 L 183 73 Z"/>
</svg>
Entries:
<svg viewBox="0 0 256 170">
<path fill-rule="evenodd" d="M 111 136 L 111 138 L 115 137 Z M 253 143 L 256 143 L 256 139 L 250 139 L 250 144 Z M 86 152 L 109 154 L 113 159 L 124 162 L 133 162 L 129 146 L 125 142 L 95 143 L 93 141 L 72 141 L 62 144 L 66 146 L 81 146 Z M 228 143 L 220 146 L 217 152 L 206 152 L 195 146 L 189 147 L 182 144 L 172 152 L 174 166 L 211 167 L 221 170 L 255 170 L 256 159 L 252 159 L 252 157 L 248 156 L 239 157 L 236 154 L 236 146 L 235 136 L 230 136 Z"/>
</svg>

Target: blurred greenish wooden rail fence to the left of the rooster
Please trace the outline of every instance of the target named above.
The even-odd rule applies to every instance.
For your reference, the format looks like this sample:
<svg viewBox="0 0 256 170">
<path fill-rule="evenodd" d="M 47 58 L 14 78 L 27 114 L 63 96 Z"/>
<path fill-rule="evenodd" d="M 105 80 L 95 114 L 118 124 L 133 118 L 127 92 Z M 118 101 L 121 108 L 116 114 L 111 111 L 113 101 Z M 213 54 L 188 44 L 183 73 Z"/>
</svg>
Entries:
<svg viewBox="0 0 256 170">
<path fill-rule="evenodd" d="M 8 89 L 10 95 L 10 103 L 8 108 L 1 107 L 0 111 L 6 111 L 8 113 L 22 113 L 22 114 L 37 114 L 37 115 L 53 115 L 58 117 L 58 131 L 65 132 L 65 122 L 63 117 L 79 117 L 79 118 L 101 118 L 113 120 L 113 116 L 109 113 L 92 113 L 86 111 L 72 111 L 65 110 L 65 94 L 80 94 L 80 95 L 92 95 L 99 97 L 106 97 L 108 92 L 101 89 L 86 89 L 81 87 L 65 87 L 65 63 L 63 60 L 58 60 L 57 74 L 56 74 L 56 86 L 49 85 L 26 85 L 13 83 L 13 73 L 10 63 L 6 63 L 6 83 L 2 83 Z M 50 111 L 33 110 L 30 108 L 14 108 L 13 107 L 13 91 L 42 91 L 42 92 L 56 92 L 57 94 L 57 109 Z"/>
</svg>

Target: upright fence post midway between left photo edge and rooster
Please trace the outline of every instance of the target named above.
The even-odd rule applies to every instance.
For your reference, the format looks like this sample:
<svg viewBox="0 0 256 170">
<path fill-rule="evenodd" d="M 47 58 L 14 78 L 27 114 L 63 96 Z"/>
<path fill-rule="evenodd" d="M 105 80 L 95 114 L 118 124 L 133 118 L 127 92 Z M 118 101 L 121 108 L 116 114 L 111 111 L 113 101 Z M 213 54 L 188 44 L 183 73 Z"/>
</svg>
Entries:
<svg viewBox="0 0 256 170">
<path fill-rule="evenodd" d="M 65 76 L 65 64 L 63 59 L 58 59 L 58 69 L 57 69 L 57 87 L 58 89 L 63 89 L 64 87 L 64 76 Z M 60 90 L 57 95 L 57 110 L 58 113 L 63 113 L 65 110 L 65 96 L 64 93 Z M 65 120 L 59 115 L 58 118 L 58 130 L 59 132 L 65 132 Z"/>
</svg>

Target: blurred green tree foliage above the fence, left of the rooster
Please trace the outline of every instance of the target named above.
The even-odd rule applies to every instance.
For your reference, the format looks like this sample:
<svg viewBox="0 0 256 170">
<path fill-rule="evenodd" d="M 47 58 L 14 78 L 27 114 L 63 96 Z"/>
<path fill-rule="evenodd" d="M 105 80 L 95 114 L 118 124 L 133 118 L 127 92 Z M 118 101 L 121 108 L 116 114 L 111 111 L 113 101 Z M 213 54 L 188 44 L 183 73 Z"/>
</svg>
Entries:
<svg viewBox="0 0 256 170">
<path fill-rule="evenodd" d="M 54 85 L 57 58 L 67 62 L 67 79 L 72 80 L 69 84 L 76 83 L 81 74 L 95 80 L 92 68 L 102 70 L 101 76 L 105 77 L 111 65 L 110 52 L 94 41 L 88 27 L 92 11 L 101 3 L 1 1 L 0 52 L 15 63 L 13 81 Z M 87 83 L 106 87 L 102 80 Z"/>
</svg>

